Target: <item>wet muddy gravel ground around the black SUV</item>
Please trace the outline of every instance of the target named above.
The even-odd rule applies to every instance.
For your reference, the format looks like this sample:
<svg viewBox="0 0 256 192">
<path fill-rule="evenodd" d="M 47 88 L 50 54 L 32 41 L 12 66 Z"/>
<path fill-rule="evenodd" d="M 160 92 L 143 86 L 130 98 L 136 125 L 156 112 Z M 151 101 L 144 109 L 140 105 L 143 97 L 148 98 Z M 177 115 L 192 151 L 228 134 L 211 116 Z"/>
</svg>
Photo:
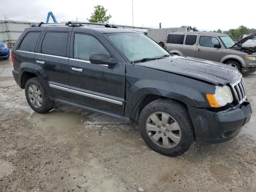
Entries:
<svg viewBox="0 0 256 192">
<path fill-rule="evenodd" d="M 136 124 L 62 104 L 33 112 L 11 71 L 0 60 L 0 192 L 256 191 L 256 113 L 234 140 L 167 157 Z M 256 111 L 256 73 L 244 79 Z"/>
</svg>

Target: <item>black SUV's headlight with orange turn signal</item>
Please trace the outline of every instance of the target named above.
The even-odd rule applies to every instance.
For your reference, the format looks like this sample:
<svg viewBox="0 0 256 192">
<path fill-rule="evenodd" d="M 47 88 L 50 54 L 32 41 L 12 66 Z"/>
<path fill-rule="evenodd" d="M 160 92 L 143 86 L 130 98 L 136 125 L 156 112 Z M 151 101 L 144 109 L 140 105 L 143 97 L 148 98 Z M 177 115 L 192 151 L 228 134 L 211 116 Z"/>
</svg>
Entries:
<svg viewBox="0 0 256 192">
<path fill-rule="evenodd" d="M 222 107 L 233 102 L 229 86 L 216 86 L 215 94 L 206 94 L 211 107 Z"/>
</svg>

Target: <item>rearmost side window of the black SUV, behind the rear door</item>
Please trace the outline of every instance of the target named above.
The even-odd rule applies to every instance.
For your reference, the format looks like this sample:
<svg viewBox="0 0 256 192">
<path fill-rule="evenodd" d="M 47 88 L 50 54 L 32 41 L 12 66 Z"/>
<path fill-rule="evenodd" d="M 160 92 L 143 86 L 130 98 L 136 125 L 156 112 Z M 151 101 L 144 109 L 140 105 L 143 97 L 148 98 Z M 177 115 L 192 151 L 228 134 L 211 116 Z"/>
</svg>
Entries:
<svg viewBox="0 0 256 192">
<path fill-rule="evenodd" d="M 22 40 L 18 50 L 21 51 L 28 51 L 28 52 L 35 52 L 36 43 L 40 36 L 41 32 L 29 32 L 26 34 L 24 39 Z"/>
</svg>

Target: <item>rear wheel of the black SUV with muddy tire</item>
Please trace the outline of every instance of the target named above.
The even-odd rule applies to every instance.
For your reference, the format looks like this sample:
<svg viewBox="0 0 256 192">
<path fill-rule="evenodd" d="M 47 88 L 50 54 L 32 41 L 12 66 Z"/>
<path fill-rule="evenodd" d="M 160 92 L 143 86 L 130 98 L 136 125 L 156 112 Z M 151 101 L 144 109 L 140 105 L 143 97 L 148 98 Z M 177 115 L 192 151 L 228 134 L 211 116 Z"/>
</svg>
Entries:
<svg viewBox="0 0 256 192">
<path fill-rule="evenodd" d="M 54 102 L 47 96 L 42 82 L 30 78 L 25 85 L 25 95 L 29 106 L 38 113 L 46 113 L 52 109 Z"/>
</svg>

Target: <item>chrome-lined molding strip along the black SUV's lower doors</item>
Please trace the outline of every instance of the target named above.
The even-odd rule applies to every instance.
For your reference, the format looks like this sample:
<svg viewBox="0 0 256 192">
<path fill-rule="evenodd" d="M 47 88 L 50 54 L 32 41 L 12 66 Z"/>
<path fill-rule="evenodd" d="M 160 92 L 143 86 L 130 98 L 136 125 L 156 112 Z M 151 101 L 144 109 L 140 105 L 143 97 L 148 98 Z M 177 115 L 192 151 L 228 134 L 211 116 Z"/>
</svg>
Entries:
<svg viewBox="0 0 256 192">
<path fill-rule="evenodd" d="M 79 95 L 82 95 L 82 96 L 86 96 L 86 97 L 90 97 L 90 98 L 94 98 L 94 99 L 98 99 L 98 100 L 102 100 L 102 101 L 106 101 L 106 102 L 110 102 L 110 103 L 114 103 L 114 104 L 118 104 L 118 105 L 123 105 L 122 101 L 118 101 L 118 100 L 114 100 L 114 99 L 110 99 L 110 98 L 106 98 L 106 97 L 102 97 L 102 96 L 98 96 L 98 95 L 94 95 L 94 94 L 90 94 L 90 93 L 85 93 L 85 92 L 65 88 L 65 87 L 50 84 L 50 83 L 49 83 L 49 86 L 52 87 L 52 88 L 67 91 L 67 92 L 70 92 L 70 93 L 79 94 Z"/>
</svg>

